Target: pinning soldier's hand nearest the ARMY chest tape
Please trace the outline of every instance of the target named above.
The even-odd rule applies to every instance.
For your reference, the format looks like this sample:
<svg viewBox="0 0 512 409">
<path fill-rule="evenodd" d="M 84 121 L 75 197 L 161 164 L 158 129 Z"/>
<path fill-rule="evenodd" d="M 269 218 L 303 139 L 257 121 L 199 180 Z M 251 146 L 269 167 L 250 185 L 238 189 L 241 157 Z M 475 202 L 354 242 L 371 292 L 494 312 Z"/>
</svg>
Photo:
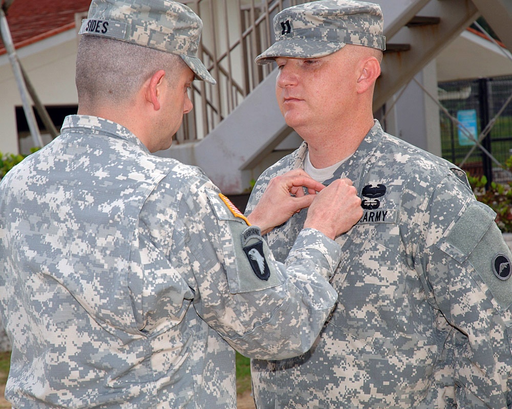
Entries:
<svg viewBox="0 0 512 409">
<path fill-rule="evenodd" d="M 361 199 L 352 180 L 337 179 L 314 196 L 304 228 L 316 229 L 334 240 L 361 217 Z"/>
</svg>

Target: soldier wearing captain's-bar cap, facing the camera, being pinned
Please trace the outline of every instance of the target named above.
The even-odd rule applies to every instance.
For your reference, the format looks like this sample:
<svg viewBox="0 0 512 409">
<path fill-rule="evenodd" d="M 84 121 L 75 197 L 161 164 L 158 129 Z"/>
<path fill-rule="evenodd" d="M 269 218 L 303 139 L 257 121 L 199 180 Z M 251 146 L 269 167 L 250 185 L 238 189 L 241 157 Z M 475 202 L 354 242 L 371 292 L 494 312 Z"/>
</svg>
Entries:
<svg viewBox="0 0 512 409">
<path fill-rule="evenodd" d="M 305 142 L 262 174 L 247 210 L 270 178 L 303 168 L 324 185 L 353 180 L 364 215 L 336 238 L 338 302 L 312 349 L 252 360 L 258 409 L 511 407 L 511 254 L 464 172 L 373 119 L 380 7 L 313 2 L 274 28 L 256 61 L 278 65 L 280 109 Z M 306 215 L 265 236 L 276 259 Z"/>
</svg>

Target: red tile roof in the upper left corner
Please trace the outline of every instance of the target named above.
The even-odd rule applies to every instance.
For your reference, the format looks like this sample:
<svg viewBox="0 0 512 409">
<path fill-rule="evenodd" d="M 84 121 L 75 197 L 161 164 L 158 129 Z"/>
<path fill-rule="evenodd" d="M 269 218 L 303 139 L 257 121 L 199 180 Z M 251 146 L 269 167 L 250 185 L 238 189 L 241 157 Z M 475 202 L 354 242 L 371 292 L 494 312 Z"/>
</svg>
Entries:
<svg viewBox="0 0 512 409">
<path fill-rule="evenodd" d="M 90 4 L 91 0 L 14 0 L 6 13 L 14 47 L 19 49 L 73 29 L 75 13 L 89 10 Z M 0 55 L 5 53 L 0 39 Z"/>
</svg>

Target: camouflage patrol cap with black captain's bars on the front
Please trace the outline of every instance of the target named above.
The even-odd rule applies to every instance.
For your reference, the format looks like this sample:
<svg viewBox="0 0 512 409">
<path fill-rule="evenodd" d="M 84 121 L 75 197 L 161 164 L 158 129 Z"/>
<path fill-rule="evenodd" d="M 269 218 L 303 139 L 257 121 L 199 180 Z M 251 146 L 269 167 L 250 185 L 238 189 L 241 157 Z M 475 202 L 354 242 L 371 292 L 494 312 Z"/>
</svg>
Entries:
<svg viewBox="0 0 512 409">
<path fill-rule="evenodd" d="M 276 57 L 319 58 L 356 44 L 386 49 L 378 4 L 322 0 L 282 10 L 274 17 L 275 42 L 256 57 L 263 65 Z"/>
</svg>

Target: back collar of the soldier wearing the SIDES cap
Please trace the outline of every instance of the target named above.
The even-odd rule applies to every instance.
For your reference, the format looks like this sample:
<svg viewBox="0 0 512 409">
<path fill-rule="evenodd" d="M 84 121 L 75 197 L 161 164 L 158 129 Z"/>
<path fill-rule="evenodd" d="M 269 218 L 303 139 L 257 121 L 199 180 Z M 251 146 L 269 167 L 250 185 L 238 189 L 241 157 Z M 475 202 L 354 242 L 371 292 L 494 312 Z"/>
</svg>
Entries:
<svg viewBox="0 0 512 409">
<path fill-rule="evenodd" d="M 108 119 L 93 117 L 90 115 L 70 115 L 64 119 L 60 133 L 77 132 L 77 133 L 93 133 L 106 135 L 131 142 L 145 152 L 150 151 L 142 142 L 124 126 L 109 121 Z"/>
</svg>

